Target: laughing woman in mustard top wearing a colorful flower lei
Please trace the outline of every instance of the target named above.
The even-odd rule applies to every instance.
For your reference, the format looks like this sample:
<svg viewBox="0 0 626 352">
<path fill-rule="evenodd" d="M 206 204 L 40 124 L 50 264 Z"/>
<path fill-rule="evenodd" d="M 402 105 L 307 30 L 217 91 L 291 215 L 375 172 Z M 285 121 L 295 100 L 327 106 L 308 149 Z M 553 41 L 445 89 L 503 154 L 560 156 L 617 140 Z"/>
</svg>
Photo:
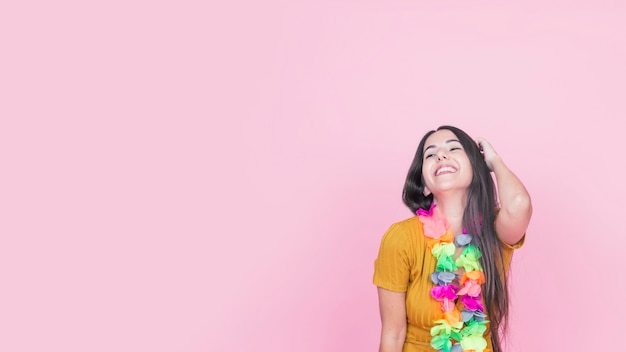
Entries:
<svg viewBox="0 0 626 352">
<path fill-rule="evenodd" d="M 501 352 L 507 271 L 532 214 L 524 185 L 486 140 L 441 126 L 422 138 L 403 200 L 417 216 L 389 228 L 375 262 L 380 352 Z"/>
</svg>

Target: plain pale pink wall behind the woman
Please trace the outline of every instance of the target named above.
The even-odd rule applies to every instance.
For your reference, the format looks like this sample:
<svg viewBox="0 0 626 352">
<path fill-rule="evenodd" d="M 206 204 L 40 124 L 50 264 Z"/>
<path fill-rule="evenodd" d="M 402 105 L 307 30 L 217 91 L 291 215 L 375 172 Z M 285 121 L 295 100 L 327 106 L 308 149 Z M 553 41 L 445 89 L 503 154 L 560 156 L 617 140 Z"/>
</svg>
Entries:
<svg viewBox="0 0 626 352">
<path fill-rule="evenodd" d="M 1 351 L 377 350 L 441 124 L 533 197 L 507 351 L 623 346 L 624 2 L 223 3 L 0 5 Z"/>
</svg>

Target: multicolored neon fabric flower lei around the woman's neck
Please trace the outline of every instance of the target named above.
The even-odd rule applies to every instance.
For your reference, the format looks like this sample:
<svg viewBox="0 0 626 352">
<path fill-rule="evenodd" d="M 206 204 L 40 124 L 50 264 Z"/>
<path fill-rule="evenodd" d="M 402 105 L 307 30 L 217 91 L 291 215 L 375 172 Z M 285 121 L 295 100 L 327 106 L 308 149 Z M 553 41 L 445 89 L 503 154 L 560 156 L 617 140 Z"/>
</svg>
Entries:
<svg viewBox="0 0 626 352">
<path fill-rule="evenodd" d="M 428 248 L 437 259 L 435 272 L 430 276 L 435 284 L 430 294 L 441 303 L 443 311 L 430 329 L 433 337 L 430 345 L 443 352 L 482 352 L 487 348 L 483 334 L 489 321 L 482 303 L 481 285 L 485 282 L 485 275 L 479 262 L 480 249 L 470 244 L 472 235 L 465 230 L 455 237 L 446 219 L 436 214 L 434 208 L 433 203 L 428 211 L 417 211 L 424 224 L 424 235 L 428 237 Z M 455 260 L 457 247 L 463 251 Z M 455 273 L 459 267 L 465 270 L 461 277 Z M 455 284 L 457 280 L 460 286 Z M 464 306 L 460 312 L 456 308 L 457 299 Z"/>
</svg>

